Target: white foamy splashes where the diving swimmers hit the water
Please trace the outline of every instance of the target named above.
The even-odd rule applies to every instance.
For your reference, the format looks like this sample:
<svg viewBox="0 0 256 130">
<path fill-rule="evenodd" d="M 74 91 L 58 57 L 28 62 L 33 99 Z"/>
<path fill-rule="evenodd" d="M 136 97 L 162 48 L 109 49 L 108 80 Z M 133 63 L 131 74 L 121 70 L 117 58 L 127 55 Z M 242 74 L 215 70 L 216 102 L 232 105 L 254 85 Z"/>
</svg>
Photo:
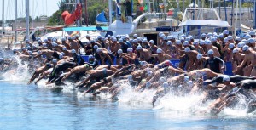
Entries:
<svg viewBox="0 0 256 130">
<path fill-rule="evenodd" d="M 4 55 L 4 54 L 2 54 Z M 17 57 L 12 57 L 17 61 L 17 67 L 4 72 L 1 75 L 3 81 L 10 82 L 27 82 L 32 76 L 27 67 L 28 63 L 18 59 Z M 46 80 L 41 80 L 38 82 L 38 88 L 55 88 L 53 84 L 45 85 Z M 73 93 L 74 85 L 71 82 L 65 82 L 65 86 L 61 86 L 63 93 Z M 127 82 L 115 82 L 119 84 L 119 88 L 122 88 L 122 91 L 119 93 L 118 102 L 120 106 L 129 105 L 133 108 L 150 108 L 152 110 L 160 110 L 166 114 L 166 111 L 170 113 L 166 117 L 172 116 L 189 116 L 189 115 L 200 115 L 199 111 L 207 110 L 208 106 L 212 103 L 212 100 L 207 101 L 207 103 L 202 104 L 201 94 L 187 94 L 183 96 L 177 96 L 175 94 L 167 93 L 162 98 L 158 99 L 156 106 L 152 107 L 152 99 L 156 90 L 144 90 L 143 92 L 135 92 L 134 88 Z M 112 95 L 106 93 L 100 93 L 98 95 L 101 99 L 111 100 Z M 91 94 L 82 94 L 78 91 L 78 99 L 90 98 Z M 246 106 L 247 101 L 244 97 L 240 96 L 238 103 L 233 108 L 224 108 L 224 110 L 219 114 L 220 116 L 248 116 Z M 250 116 L 254 116 L 254 113 L 251 113 Z"/>
</svg>

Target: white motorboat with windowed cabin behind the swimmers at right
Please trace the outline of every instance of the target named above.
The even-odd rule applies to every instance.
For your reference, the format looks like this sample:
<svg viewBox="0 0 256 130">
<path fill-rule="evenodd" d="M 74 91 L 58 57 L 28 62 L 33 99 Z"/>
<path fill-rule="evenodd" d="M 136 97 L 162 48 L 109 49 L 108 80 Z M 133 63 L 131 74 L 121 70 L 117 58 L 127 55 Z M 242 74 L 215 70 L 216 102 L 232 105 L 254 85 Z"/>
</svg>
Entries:
<svg viewBox="0 0 256 130">
<path fill-rule="evenodd" d="M 230 24 L 221 20 L 214 8 L 187 8 L 179 26 L 180 35 L 192 35 L 197 39 L 200 39 L 201 33 L 221 33 L 230 28 Z"/>
</svg>

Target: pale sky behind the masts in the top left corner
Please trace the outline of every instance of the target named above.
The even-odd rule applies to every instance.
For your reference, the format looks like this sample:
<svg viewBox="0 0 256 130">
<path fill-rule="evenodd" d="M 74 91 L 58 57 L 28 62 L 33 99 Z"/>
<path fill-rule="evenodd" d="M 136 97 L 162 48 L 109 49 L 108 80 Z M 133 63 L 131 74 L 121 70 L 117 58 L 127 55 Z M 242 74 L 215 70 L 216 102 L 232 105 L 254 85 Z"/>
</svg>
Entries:
<svg viewBox="0 0 256 130">
<path fill-rule="evenodd" d="M 26 16 L 26 0 L 17 0 L 18 2 L 18 18 Z M 59 9 L 60 0 L 29 0 L 29 12 L 32 18 L 36 16 L 47 15 L 51 16 Z M 2 20 L 3 0 L 0 0 L 0 20 Z M 15 0 L 4 0 L 4 20 L 15 19 Z"/>
</svg>

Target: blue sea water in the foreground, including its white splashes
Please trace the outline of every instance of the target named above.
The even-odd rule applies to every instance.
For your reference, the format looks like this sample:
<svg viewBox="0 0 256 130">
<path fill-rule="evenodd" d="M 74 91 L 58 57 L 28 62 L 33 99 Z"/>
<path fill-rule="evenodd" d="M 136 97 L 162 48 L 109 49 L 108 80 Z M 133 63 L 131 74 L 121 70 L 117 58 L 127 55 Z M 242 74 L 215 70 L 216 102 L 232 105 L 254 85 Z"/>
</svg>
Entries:
<svg viewBox="0 0 256 130">
<path fill-rule="evenodd" d="M 81 94 L 73 84 L 55 88 L 26 85 L 26 65 L 0 77 L 0 129 L 256 129 L 255 114 L 246 114 L 243 100 L 218 116 L 201 113 L 201 94 L 166 94 L 152 106 L 153 90 L 134 92 L 125 82 L 118 100 L 110 95 Z"/>
</svg>

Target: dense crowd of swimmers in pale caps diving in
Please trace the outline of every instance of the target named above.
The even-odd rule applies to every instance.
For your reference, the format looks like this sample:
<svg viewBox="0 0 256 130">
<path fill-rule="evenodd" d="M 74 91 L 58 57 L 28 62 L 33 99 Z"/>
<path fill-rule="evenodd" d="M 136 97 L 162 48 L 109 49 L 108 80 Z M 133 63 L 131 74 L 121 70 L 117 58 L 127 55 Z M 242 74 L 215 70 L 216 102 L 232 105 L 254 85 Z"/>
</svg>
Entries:
<svg viewBox="0 0 256 130">
<path fill-rule="evenodd" d="M 235 106 L 241 97 L 247 101 L 247 112 L 256 109 L 255 31 L 235 38 L 227 30 L 203 33 L 199 41 L 185 35 L 177 39 L 163 32 L 158 41 L 137 34 L 132 38 L 86 38 L 88 42 L 81 42 L 79 36 L 60 41 L 55 37 L 26 40 L 14 54 L 32 72 L 28 84 L 46 81 L 46 85 L 62 86 L 73 82 L 84 94 L 106 93 L 113 98 L 125 89 L 119 82 L 125 82 L 135 93 L 154 90 L 153 105 L 168 93 L 201 94 L 202 104 L 212 101 L 209 109 L 201 112 L 218 114 Z M 89 55 L 88 60 L 82 55 Z M 179 59 L 179 65 L 170 59 Z M 233 76 L 224 75 L 225 62 L 232 63 Z M 15 68 L 15 59 L 0 58 L 2 72 Z"/>
</svg>

